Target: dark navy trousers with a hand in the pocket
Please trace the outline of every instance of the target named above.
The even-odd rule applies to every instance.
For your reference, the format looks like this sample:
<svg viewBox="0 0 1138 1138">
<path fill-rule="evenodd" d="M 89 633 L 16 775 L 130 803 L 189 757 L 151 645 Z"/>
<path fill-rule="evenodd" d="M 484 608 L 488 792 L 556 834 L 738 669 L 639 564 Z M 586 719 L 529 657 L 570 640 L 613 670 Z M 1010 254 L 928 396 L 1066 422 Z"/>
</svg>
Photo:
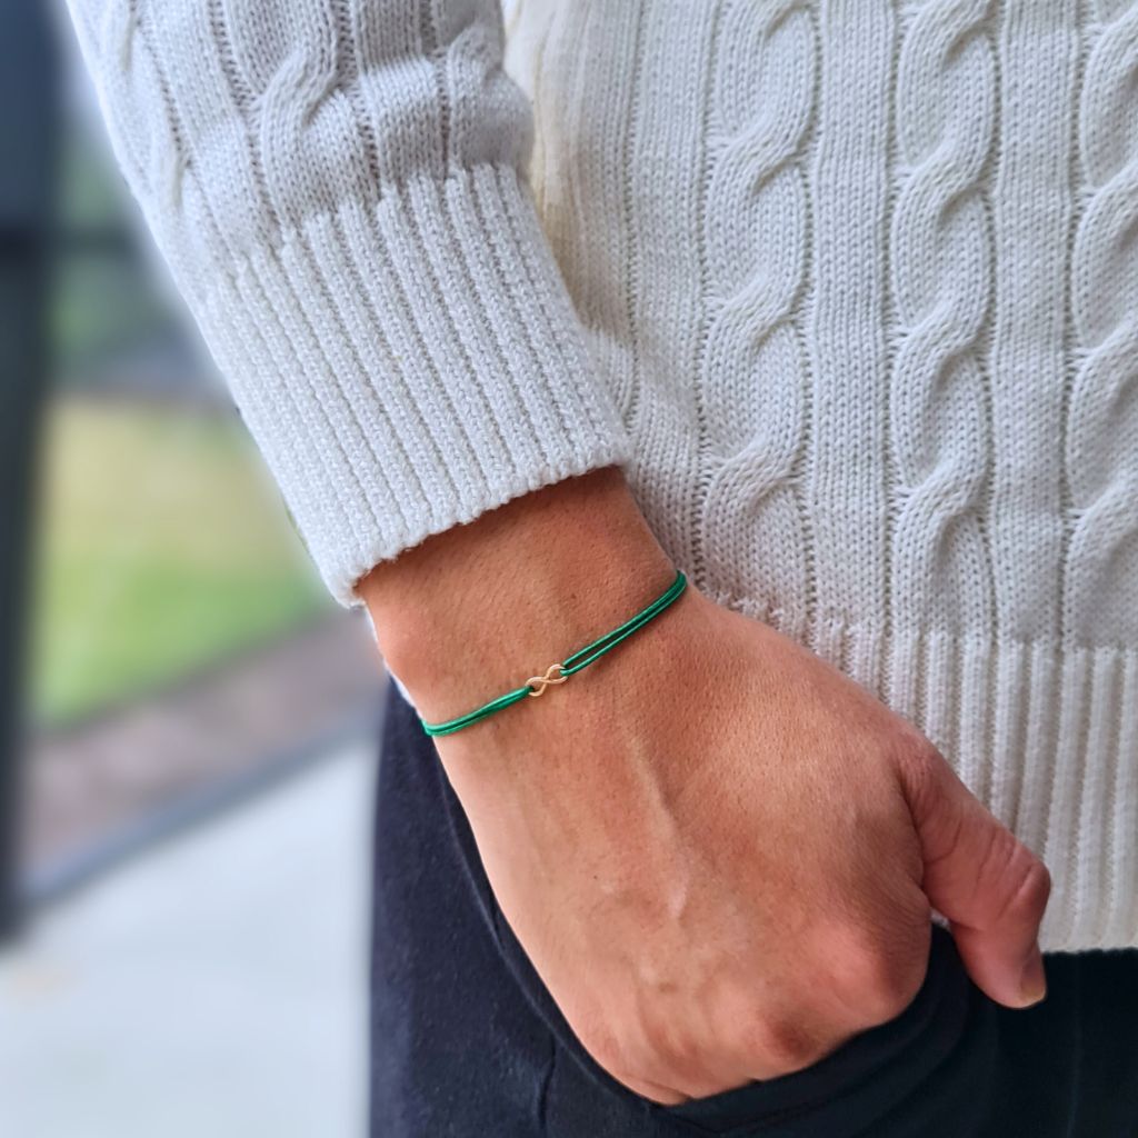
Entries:
<svg viewBox="0 0 1138 1138">
<path fill-rule="evenodd" d="M 1138 949 L 1048 954 L 1015 1012 L 934 925 L 897 1019 L 806 1070 L 662 1107 L 580 1047 L 500 913 L 394 687 L 378 778 L 372 1138 L 1138 1138 Z"/>
</svg>

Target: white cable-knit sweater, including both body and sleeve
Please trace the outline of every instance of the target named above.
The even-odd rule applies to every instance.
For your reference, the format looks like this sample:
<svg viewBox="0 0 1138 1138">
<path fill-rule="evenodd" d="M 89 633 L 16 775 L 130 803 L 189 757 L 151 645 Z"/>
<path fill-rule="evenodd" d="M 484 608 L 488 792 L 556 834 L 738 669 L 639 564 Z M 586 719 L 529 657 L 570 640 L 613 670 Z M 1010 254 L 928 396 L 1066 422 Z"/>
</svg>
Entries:
<svg viewBox="0 0 1138 1138">
<path fill-rule="evenodd" d="M 1138 3 L 69 5 L 341 601 L 620 463 L 1138 945 Z"/>
</svg>

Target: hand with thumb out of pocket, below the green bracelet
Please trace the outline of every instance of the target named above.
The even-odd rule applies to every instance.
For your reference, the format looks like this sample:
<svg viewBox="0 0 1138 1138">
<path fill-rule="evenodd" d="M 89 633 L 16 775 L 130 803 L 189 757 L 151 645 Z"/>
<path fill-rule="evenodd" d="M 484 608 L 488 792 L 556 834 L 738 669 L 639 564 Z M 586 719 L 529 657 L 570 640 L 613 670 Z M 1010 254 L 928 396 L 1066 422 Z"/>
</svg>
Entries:
<svg viewBox="0 0 1138 1138">
<path fill-rule="evenodd" d="M 673 619 L 674 618 L 674 619 Z M 566 1020 L 660 1103 L 818 1061 L 924 978 L 1040 995 L 1044 866 L 880 701 L 684 597 L 607 683 L 439 741 L 498 904 Z"/>
</svg>

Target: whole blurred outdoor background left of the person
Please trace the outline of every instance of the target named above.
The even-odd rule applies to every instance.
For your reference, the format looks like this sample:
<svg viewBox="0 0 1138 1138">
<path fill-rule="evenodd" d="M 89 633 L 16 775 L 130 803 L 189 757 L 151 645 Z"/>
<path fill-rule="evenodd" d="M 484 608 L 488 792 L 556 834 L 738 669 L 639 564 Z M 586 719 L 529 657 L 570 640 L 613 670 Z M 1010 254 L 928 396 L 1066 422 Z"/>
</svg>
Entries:
<svg viewBox="0 0 1138 1138">
<path fill-rule="evenodd" d="M 0 1135 L 362 1132 L 382 686 L 0 6 Z"/>
</svg>

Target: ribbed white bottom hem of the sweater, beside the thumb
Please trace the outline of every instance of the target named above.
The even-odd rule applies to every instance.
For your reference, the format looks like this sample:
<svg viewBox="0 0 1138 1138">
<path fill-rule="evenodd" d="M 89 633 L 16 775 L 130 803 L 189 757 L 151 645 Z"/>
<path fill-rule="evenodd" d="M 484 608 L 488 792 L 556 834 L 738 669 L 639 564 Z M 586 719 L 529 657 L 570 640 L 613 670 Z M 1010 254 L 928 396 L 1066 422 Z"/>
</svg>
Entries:
<svg viewBox="0 0 1138 1138">
<path fill-rule="evenodd" d="M 783 627 L 913 723 L 1052 874 L 1044 951 L 1138 947 L 1138 649 L 879 621 Z"/>
</svg>

